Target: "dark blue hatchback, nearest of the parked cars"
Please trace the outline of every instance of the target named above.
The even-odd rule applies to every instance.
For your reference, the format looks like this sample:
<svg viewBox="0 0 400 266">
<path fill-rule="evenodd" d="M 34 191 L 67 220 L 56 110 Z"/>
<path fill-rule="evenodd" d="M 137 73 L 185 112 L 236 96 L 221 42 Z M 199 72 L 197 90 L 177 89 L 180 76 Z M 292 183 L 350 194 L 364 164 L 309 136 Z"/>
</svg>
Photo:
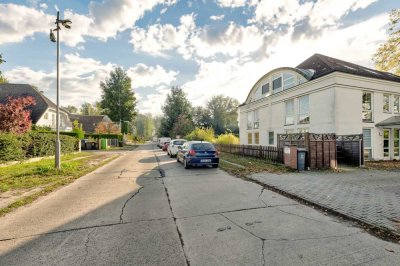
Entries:
<svg viewBox="0 0 400 266">
<path fill-rule="evenodd" d="M 189 141 L 178 149 L 177 162 L 182 162 L 185 169 L 191 166 L 211 165 L 217 168 L 219 164 L 218 151 L 207 141 Z"/>
</svg>

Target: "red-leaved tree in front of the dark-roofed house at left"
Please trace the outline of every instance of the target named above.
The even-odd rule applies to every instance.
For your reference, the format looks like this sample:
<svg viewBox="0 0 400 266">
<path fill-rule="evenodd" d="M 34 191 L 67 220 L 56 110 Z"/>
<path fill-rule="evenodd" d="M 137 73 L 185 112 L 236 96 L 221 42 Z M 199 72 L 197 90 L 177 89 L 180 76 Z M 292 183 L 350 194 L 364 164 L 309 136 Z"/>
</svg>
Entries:
<svg viewBox="0 0 400 266">
<path fill-rule="evenodd" d="M 26 107 L 35 105 L 31 96 L 8 97 L 5 104 L 0 104 L 0 132 L 22 134 L 31 129 L 31 110 Z"/>
</svg>

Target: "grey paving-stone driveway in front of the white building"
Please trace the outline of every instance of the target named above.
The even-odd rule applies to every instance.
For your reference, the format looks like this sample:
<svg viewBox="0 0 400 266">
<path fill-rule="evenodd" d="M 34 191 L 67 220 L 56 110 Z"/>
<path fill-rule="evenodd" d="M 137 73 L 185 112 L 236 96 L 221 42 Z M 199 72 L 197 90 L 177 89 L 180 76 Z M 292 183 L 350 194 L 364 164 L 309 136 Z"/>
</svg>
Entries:
<svg viewBox="0 0 400 266">
<path fill-rule="evenodd" d="M 252 178 L 400 235 L 400 171 L 259 173 Z"/>
</svg>

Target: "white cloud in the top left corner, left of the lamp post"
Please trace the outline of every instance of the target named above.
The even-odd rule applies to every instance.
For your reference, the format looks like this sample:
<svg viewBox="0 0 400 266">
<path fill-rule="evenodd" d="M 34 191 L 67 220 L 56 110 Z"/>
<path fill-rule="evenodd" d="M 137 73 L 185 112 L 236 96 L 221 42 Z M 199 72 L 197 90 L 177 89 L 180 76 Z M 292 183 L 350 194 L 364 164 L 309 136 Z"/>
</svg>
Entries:
<svg viewBox="0 0 400 266">
<path fill-rule="evenodd" d="M 48 33 L 54 20 L 54 16 L 41 10 L 15 4 L 0 4 L 0 44 L 21 42 L 36 32 Z"/>
</svg>

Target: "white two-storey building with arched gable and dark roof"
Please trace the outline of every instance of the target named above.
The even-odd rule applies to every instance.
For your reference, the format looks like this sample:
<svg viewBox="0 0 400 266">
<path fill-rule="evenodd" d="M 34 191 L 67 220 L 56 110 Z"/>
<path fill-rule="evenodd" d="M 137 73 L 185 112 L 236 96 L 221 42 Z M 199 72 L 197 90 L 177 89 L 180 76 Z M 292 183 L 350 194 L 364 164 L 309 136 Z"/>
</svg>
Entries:
<svg viewBox="0 0 400 266">
<path fill-rule="evenodd" d="M 366 160 L 400 159 L 400 76 L 321 54 L 262 76 L 239 107 L 240 144 L 277 134 L 364 134 Z"/>
</svg>

